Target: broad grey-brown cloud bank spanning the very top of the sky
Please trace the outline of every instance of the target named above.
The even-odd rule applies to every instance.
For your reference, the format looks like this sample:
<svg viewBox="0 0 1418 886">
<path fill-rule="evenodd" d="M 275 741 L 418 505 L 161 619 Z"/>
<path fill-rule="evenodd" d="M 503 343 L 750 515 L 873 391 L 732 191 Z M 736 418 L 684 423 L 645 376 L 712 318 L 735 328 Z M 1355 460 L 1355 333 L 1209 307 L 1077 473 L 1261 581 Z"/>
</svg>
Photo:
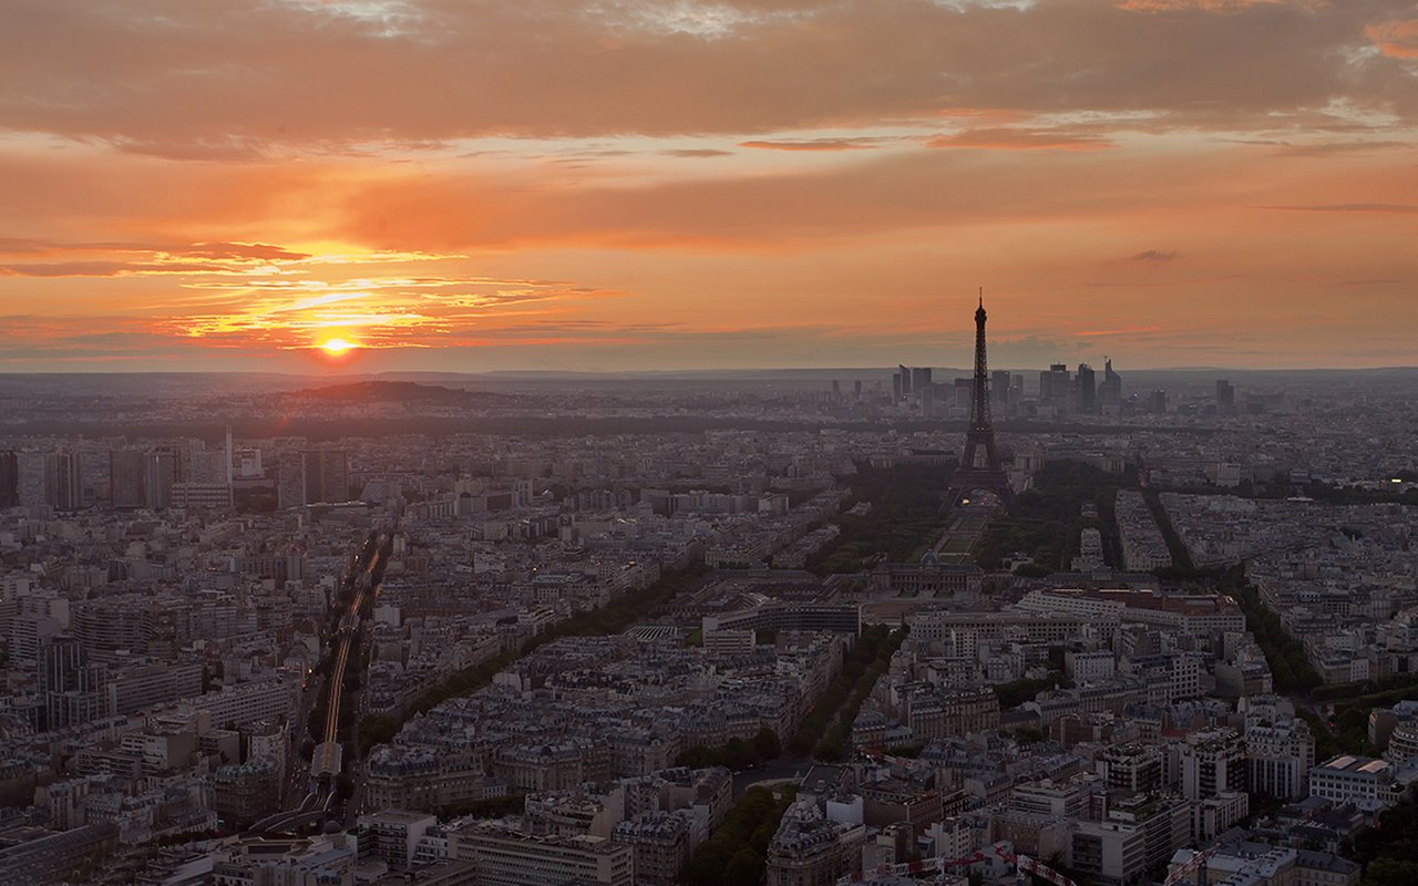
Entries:
<svg viewBox="0 0 1418 886">
<path fill-rule="evenodd" d="M 1332 108 L 1418 119 L 1400 0 L 401 9 L 391 27 L 313 3 L 14 0 L 0 126 L 230 162 L 509 135 L 841 132 L 951 109 L 1141 115 L 1151 130 L 1275 129 Z M 1371 40 L 1384 54 L 1357 51 Z"/>
</svg>

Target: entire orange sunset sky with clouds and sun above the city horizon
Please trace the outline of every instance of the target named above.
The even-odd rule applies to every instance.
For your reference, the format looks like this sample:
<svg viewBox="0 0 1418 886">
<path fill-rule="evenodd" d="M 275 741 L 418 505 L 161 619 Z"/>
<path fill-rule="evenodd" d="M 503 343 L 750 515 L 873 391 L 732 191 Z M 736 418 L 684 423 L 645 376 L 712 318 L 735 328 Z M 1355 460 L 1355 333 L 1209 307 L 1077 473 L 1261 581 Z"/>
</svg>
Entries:
<svg viewBox="0 0 1418 886">
<path fill-rule="evenodd" d="M 1415 125 L 1397 0 L 0 0 L 0 371 L 1411 366 Z"/>
</svg>

